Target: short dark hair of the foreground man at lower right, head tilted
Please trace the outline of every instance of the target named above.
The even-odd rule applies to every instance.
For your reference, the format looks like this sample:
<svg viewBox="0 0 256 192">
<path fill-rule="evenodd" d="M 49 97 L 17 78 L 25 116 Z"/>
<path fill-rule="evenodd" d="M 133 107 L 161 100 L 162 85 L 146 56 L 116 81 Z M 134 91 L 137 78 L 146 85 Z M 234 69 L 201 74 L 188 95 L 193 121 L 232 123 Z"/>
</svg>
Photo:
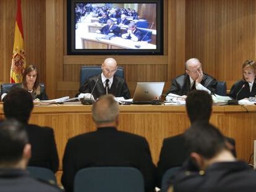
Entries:
<svg viewBox="0 0 256 192">
<path fill-rule="evenodd" d="M 205 159 L 211 159 L 226 148 L 221 132 L 208 122 L 195 122 L 184 134 L 189 152 L 197 152 Z"/>
</svg>

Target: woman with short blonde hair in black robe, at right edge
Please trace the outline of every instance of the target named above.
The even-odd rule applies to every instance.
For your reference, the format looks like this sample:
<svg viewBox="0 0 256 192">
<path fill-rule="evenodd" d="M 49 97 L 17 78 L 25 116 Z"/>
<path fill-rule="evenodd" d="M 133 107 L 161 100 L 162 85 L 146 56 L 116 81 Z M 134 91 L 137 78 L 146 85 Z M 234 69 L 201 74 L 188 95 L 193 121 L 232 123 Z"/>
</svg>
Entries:
<svg viewBox="0 0 256 192">
<path fill-rule="evenodd" d="M 229 96 L 233 99 L 255 97 L 256 95 L 256 62 L 247 60 L 242 65 L 242 80 L 236 81 L 231 87 Z"/>
</svg>

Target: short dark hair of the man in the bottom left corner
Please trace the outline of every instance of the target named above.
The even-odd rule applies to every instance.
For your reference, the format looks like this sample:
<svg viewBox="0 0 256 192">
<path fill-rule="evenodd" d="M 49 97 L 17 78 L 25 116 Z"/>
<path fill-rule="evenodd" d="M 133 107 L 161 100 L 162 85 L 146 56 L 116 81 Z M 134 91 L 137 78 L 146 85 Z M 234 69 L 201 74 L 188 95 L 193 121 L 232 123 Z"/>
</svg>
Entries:
<svg viewBox="0 0 256 192">
<path fill-rule="evenodd" d="M 15 164 L 22 159 L 23 149 L 28 143 L 27 132 L 17 120 L 0 123 L 0 164 Z"/>
</svg>

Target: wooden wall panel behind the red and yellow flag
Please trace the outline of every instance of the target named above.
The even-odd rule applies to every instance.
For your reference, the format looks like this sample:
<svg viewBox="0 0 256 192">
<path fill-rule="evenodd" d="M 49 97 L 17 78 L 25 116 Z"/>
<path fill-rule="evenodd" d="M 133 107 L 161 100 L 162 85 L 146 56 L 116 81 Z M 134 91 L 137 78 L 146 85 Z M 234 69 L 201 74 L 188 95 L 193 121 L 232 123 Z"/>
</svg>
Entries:
<svg viewBox="0 0 256 192">
<path fill-rule="evenodd" d="M 14 46 L 17 1 L 0 1 L 0 81 L 9 82 Z M 22 1 L 24 47 L 27 65 L 35 64 L 45 82 L 45 1 Z"/>
</svg>

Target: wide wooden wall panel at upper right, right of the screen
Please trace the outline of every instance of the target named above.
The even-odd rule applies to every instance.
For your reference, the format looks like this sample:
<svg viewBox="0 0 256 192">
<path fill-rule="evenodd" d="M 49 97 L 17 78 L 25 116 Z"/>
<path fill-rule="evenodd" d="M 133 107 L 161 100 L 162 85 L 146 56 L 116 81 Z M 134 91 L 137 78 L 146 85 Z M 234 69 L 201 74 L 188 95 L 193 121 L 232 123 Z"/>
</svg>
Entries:
<svg viewBox="0 0 256 192">
<path fill-rule="evenodd" d="M 186 59 L 218 80 L 240 79 L 242 62 L 256 59 L 255 1 L 187 0 L 186 10 Z"/>
</svg>

